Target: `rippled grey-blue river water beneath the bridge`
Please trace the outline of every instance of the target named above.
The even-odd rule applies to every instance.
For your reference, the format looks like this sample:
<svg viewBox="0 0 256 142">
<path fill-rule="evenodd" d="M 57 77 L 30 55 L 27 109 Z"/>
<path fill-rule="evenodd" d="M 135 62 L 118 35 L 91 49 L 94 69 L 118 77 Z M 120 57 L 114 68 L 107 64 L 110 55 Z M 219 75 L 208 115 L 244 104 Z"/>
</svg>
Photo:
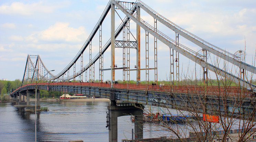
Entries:
<svg viewBox="0 0 256 142">
<path fill-rule="evenodd" d="M 109 102 L 40 102 L 49 111 L 37 114 L 37 141 L 64 142 L 107 142 L 106 111 Z M 34 105 L 33 103 L 31 105 Z M 131 139 L 134 123 L 130 116 L 118 117 L 118 142 Z M 143 137 L 159 137 L 159 133 L 145 124 Z M 164 134 L 164 133 L 161 133 Z M 11 103 L 0 102 L 0 141 L 35 141 L 35 114 L 14 107 Z"/>
</svg>

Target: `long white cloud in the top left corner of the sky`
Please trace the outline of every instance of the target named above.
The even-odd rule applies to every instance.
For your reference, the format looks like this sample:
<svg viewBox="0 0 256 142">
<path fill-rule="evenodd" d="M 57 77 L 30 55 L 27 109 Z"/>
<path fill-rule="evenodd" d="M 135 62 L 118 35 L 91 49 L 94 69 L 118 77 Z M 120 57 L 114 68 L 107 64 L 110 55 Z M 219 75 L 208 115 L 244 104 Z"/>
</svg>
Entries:
<svg viewBox="0 0 256 142">
<path fill-rule="evenodd" d="M 19 14 L 19 15 L 32 15 L 35 12 L 52 13 L 56 8 L 63 7 L 62 3 L 51 3 L 47 5 L 43 1 L 32 4 L 24 4 L 21 2 L 13 2 L 11 5 L 1 5 L 0 13 L 2 14 Z"/>
</svg>

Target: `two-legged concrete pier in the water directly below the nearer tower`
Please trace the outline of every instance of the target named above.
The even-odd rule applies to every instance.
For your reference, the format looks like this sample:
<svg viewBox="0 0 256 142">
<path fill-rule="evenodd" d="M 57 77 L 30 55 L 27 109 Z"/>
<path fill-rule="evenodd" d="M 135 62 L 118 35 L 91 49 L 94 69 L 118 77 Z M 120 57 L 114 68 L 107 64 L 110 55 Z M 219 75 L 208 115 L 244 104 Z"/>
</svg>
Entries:
<svg viewBox="0 0 256 142">
<path fill-rule="evenodd" d="M 111 100 L 108 106 L 109 142 L 117 142 L 117 117 L 126 115 L 135 116 L 135 139 L 143 139 L 143 109 L 141 104 L 117 104 L 115 100 Z"/>
</svg>

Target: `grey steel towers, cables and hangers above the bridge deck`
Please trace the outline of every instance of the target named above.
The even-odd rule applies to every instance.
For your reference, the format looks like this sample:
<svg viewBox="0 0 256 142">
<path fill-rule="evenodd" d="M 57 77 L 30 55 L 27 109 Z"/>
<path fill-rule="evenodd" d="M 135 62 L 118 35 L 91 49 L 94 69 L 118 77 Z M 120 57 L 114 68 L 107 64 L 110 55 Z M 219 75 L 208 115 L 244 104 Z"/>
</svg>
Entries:
<svg viewBox="0 0 256 142">
<path fill-rule="evenodd" d="M 140 11 L 144 10 L 147 14 L 153 17 L 154 25 L 150 25 L 145 20 L 140 17 Z M 126 17 L 122 19 L 122 22 L 119 24 L 118 28 L 115 29 L 115 14 L 118 12 L 125 14 Z M 111 35 L 109 40 L 106 42 L 104 46 L 102 46 L 102 24 L 106 18 L 106 15 L 110 12 L 111 14 Z M 119 16 L 119 14 L 118 14 Z M 120 16 L 119 16 L 120 17 Z M 121 18 L 121 17 L 120 17 Z M 136 23 L 136 38 L 131 33 L 130 22 L 133 21 Z M 157 24 L 161 23 L 162 25 L 170 28 L 175 33 L 175 39 L 168 37 L 163 32 L 159 31 L 157 28 Z M 108 23 L 109 24 L 109 23 Z M 141 68 L 140 66 L 140 28 L 145 30 L 145 68 Z M 99 32 L 99 52 L 93 58 L 92 57 L 92 40 L 95 37 L 96 33 Z M 119 34 L 122 33 L 122 40 L 116 40 Z M 130 37 L 133 36 L 133 39 Z M 149 36 L 154 37 L 154 68 L 149 68 Z M 190 48 L 182 45 L 179 43 L 179 37 L 182 36 L 185 39 L 188 39 L 190 42 L 198 45 L 202 48 L 202 51 L 196 52 L 191 50 Z M 79 50 L 75 58 L 64 68 L 60 73 L 57 75 L 53 75 L 51 72 L 49 76 L 45 76 L 43 80 L 46 81 L 70 81 L 78 80 L 83 82 L 83 78 L 85 76 L 85 81 L 93 82 L 95 80 L 95 63 L 99 61 L 99 81 L 103 81 L 103 71 L 104 70 L 111 70 L 111 83 L 115 81 L 115 70 L 121 69 L 123 71 L 123 81 L 130 80 L 130 71 L 136 71 L 137 76 L 136 80 L 137 83 L 140 83 L 140 71 L 146 70 L 146 82 L 149 83 L 149 70 L 154 70 L 154 81 L 158 81 L 157 75 L 157 43 L 162 42 L 166 44 L 170 48 L 170 80 L 174 82 L 174 74 L 176 76 L 177 84 L 180 81 L 180 72 L 179 72 L 179 54 L 183 55 L 186 58 L 196 62 L 203 68 L 203 78 L 205 83 L 207 84 L 207 74 L 208 70 L 213 72 L 218 72 L 219 75 L 224 76 L 231 81 L 234 81 L 241 86 L 244 87 L 252 87 L 255 88 L 256 86 L 247 82 L 244 78 L 245 71 L 249 71 L 256 74 L 256 68 L 244 62 L 241 55 L 243 51 L 238 51 L 235 54 L 227 52 L 221 48 L 218 48 L 205 40 L 193 35 L 192 33 L 186 31 L 185 29 L 179 27 L 178 25 L 174 24 L 170 20 L 166 19 L 150 7 L 148 7 L 145 3 L 138 0 L 136 2 L 123 2 L 123 1 L 116 1 L 110 0 L 101 15 L 98 23 L 95 25 L 92 33 L 89 35 L 88 39 L 86 40 L 85 44 Z M 84 57 L 85 57 L 85 49 L 89 47 L 89 63 L 84 64 Z M 103 55 L 104 52 L 110 48 L 111 49 L 111 68 L 104 69 L 103 66 Z M 122 48 L 122 68 L 117 68 L 115 64 L 115 48 Z M 136 50 L 136 69 L 131 69 L 130 67 L 130 50 Z M 175 54 L 174 54 L 175 52 Z M 240 75 L 236 76 L 230 72 L 227 72 L 223 69 L 220 69 L 213 64 L 207 62 L 207 54 L 211 53 L 212 55 L 219 57 L 227 62 L 230 62 L 237 66 L 240 69 Z M 32 62 L 31 58 L 36 59 L 35 63 Z M 78 59 L 80 60 L 78 61 Z M 81 62 L 81 67 L 76 69 L 76 63 Z M 176 69 L 174 70 L 174 62 Z M 73 74 L 70 74 L 70 69 L 73 67 Z M 39 78 L 42 78 L 49 70 L 44 66 L 41 58 L 39 55 L 28 55 L 25 71 L 23 75 L 23 82 L 32 82 L 35 76 L 35 71 L 39 69 Z M 89 73 L 88 73 L 89 72 Z M 84 74 L 85 73 L 85 74 Z M 89 77 L 87 76 L 89 75 Z M 89 79 L 88 79 L 89 78 Z M 88 79 L 88 80 L 87 80 Z"/>
</svg>

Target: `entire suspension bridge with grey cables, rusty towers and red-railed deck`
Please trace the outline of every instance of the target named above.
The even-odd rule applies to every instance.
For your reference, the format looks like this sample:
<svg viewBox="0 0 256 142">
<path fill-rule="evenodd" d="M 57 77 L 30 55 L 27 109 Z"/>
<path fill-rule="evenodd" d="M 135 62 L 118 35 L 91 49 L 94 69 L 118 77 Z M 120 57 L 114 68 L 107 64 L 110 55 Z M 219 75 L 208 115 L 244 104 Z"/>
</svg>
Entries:
<svg viewBox="0 0 256 142">
<path fill-rule="evenodd" d="M 142 19 L 140 16 L 141 10 L 152 17 L 153 21 L 148 23 L 146 22 L 147 20 Z M 109 13 L 111 15 L 111 22 L 106 23 L 104 20 L 106 20 Z M 122 18 L 121 15 L 125 16 Z M 118 23 L 118 21 L 121 22 Z M 170 29 L 175 35 L 174 38 L 168 36 L 169 32 L 160 31 L 157 26 L 159 23 L 161 26 Z M 108 37 L 103 37 L 102 34 L 104 24 L 111 26 L 111 32 Z M 141 39 L 142 34 L 144 34 L 143 37 L 145 39 Z M 180 36 L 202 49 L 194 51 L 190 47 L 184 46 L 179 42 Z M 103 38 L 109 40 L 103 43 Z M 149 39 L 153 39 L 151 42 L 153 44 L 149 44 Z M 141 45 L 142 40 L 145 40 L 143 42 L 145 45 L 143 46 Z M 97 41 L 97 45 L 93 46 L 92 41 Z M 170 51 L 170 69 L 168 70 L 170 72 L 170 84 L 165 84 L 164 86 L 151 85 L 150 82 L 151 80 L 154 80 L 156 83 L 158 82 L 158 57 L 161 56 L 157 52 L 159 42 L 169 47 Z M 97 49 L 93 49 L 93 47 L 97 47 Z M 104 60 L 104 55 L 108 54 L 106 52 L 107 49 L 110 49 L 110 59 Z M 92 50 L 98 51 L 94 57 Z M 116 65 L 116 50 L 122 51 L 121 67 Z M 142 51 L 145 52 L 145 57 L 141 57 Z M 150 51 L 154 52 L 152 63 L 149 63 L 151 61 L 149 59 Z M 180 54 L 202 67 L 203 86 L 179 85 Z M 214 56 L 236 66 L 238 71 L 234 73 L 221 69 L 218 65 L 212 64 L 207 60 L 209 56 Z M 255 74 L 256 68 L 247 64 L 244 56 L 245 52 L 243 50 L 230 53 L 206 42 L 166 19 L 140 0 L 136 2 L 110 0 L 81 50 L 78 51 L 74 59 L 60 73 L 54 75 L 53 72 L 48 70 L 39 55 L 28 55 L 22 85 L 13 91 L 11 96 L 16 100 L 18 100 L 19 96 L 19 102 L 21 103 L 21 94 L 26 95 L 28 98 L 26 106 L 30 105 L 29 96 L 34 94 L 34 90 L 61 91 L 109 98 L 111 101 L 108 113 L 109 141 L 115 141 L 117 140 L 117 134 L 115 134 L 115 131 L 117 133 L 117 127 L 115 126 L 117 119 L 115 118 L 125 114 L 135 114 L 139 119 L 139 114 L 142 114 L 138 108 L 128 110 L 124 108 L 125 106 L 116 104 L 116 100 L 136 103 L 137 105 L 155 105 L 185 110 L 185 107 L 189 104 L 188 100 L 202 100 L 205 99 L 205 96 L 211 95 L 211 97 L 209 96 L 205 99 L 206 104 L 214 106 L 221 113 L 224 113 L 226 108 L 213 102 L 216 102 L 216 98 L 221 95 L 228 95 L 230 97 L 239 96 L 243 98 L 243 108 L 246 108 L 244 110 L 251 111 L 254 109 L 251 103 L 253 102 L 256 86 L 246 79 L 246 72 Z M 140 60 L 142 58 L 145 60 L 145 66 L 141 66 Z M 136 59 L 135 67 L 131 65 L 131 59 Z M 111 66 L 104 66 L 104 61 L 110 62 Z M 86 64 L 85 62 L 88 63 Z M 151 67 L 152 65 L 153 67 Z M 98 71 L 95 71 L 95 66 L 98 66 Z M 149 75 L 150 70 L 153 70 L 151 71 L 153 75 Z M 106 71 L 108 73 L 109 71 L 111 72 L 111 80 L 105 83 L 104 74 L 106 75 Z M 145 71 L 146 84 L 141 84 L 141 71 L 143 73 Z M 98 72 L 98 76 L 95 75 L 96 72 Z M 116 72 L 122 72 L 122 83 L 115 84 Z M 130 76 L 130 72 L 136 72 L 136 84 L 129 83 L 130 78 L 135 78 L 135 76 Z M 227 80 L 233 81 L 239 87 L 208 86 L 209 72 L 214 72 Z M 153 78 L 150 78 L 150 76 L 153 76 Z M 96 80 L 98 82 L 95 82 Z M 246 88 L 250 88 L 251 91 Z M 39 100 L 40 95 L 37 96 Z M 184 98 L 188 99 L 184 101 Z M 233 110 L 233 100 L 229 101 L 229 106 L 227 107 L 230 107 L 230 109 L 227 109 Z M 37 105 L 40 106 L 39 101 Z M 115 114 L 114 110 L 115 112 L 118 110 L 120 113 Z M 200 108 L 198 110 L 202 113 L 205 112 L 205 110 Z M 211 112 L 206 110 L 206 113 L 210 114 Z M 234 113 L 232 115 L 237 114 Z M 135 134 L 137 139 L 141 139 L 143 138 L 143 127 L 141 130 L 139 126 L 143 124 L 137 123 Z"/>
</svg>

